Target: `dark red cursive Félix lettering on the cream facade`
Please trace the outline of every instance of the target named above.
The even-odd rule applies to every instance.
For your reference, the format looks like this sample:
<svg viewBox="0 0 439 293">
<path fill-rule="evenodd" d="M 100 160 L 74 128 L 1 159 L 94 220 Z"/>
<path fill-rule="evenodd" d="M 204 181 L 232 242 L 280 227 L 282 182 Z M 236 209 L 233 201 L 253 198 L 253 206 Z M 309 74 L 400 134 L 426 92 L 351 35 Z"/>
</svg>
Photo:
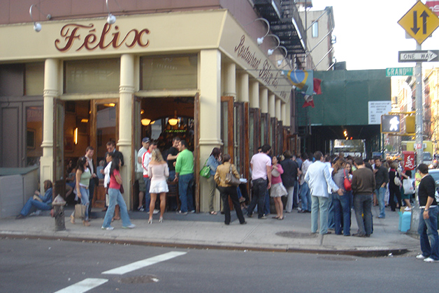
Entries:
<svg viewBox="0 0 439 293">
<path fill-rule="evenodd" d="M 106 50 L 108 47 L 117 49 L 122 46 L 147 47 L 150 40 L 147 35 L 150 34 L 149 29 L 131 29 L 127 33 L 122 34 L 119 27 L 111 24 L 104 24 L 101 31 L 98 31 L 94 24 L 66 24 L 60 31 L 61 38 L 55 40 L 55 47 L 59 52 L 67 52 L 69 50 Z"/>
</svg>

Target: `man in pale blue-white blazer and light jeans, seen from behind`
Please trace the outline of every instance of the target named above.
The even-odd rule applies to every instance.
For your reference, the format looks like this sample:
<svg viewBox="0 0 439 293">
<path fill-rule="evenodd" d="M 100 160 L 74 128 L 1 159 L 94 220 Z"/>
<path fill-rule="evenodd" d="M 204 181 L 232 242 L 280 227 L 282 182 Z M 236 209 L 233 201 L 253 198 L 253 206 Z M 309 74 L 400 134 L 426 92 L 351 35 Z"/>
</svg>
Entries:
<svg viewBox="0 0 439 293">
<path fill-rule="evenodd" d="M 330 234 L 328 232 L 328 207 L 329 193 L 328 187 L 343 195 L 343 190 L 338 188 L 332 180 L 329 167 L 323 162 L 321 151 L 314 153 L 315 163 L 312 163 L 305 175 L 305 181 L 311 190 L 311 232 L 317 233 L 317 220 L 320 213 L 320 234 Z"/>
</svg>

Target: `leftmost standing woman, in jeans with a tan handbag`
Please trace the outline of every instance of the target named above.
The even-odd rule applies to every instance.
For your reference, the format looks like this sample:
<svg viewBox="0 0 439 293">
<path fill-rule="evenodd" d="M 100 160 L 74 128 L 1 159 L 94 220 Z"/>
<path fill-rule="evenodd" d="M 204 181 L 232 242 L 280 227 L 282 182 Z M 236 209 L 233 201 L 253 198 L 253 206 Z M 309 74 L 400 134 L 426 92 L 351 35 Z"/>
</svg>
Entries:
<svg viewBox="0 0 439 293">
<path fill-rule="evenodd" d="M 88 167 L 88 160 L 85 157 L 80 157 L 78 159 L 78 165 L 76 165 L 76 198 L 80 199 L 80 204 L 85 206 L 84 218 L 82 219 L 82 225 L 88 227 L 90 225 L 88 221 L 88 206 L 89 206 L 89 181 L 92 178 L 92 172 L 90 172 Z M 76 208 L 75 208 L 76 209 Z M 75 223 L 75 211 L 70 216 L 70 221 L 72 224 Z"/>
</svg>

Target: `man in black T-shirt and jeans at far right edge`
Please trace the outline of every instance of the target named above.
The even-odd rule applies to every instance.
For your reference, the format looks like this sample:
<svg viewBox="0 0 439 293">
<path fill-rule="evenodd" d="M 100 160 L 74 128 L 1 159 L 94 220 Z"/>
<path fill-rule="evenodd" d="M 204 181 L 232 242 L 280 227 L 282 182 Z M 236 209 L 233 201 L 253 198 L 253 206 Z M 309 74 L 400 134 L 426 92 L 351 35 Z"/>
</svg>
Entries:
<svg viewBox="0 0 439 293">
<path fill-rule="evenodd" d="M 419 226 L 417 228 L 422 253 L 417 255 L 416 258 L 424 260 L 424 262 L 439 262 L 439 208 L 435 197 L 436 184 L 429 174 L 429 166 L 419 164 L 417 170 L 422 176 L 418 190 L 419 208 L 422 212 L 419 216 Z"/>
</svg>

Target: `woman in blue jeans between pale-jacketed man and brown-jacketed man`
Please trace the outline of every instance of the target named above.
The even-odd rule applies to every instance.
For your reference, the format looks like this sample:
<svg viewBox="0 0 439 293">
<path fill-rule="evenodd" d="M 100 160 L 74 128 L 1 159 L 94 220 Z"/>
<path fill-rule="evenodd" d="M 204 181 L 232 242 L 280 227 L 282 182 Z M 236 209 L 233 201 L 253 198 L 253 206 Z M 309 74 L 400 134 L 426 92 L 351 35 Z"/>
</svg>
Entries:
<svg viewBox="0 0 439 293">
<path fill-rule="evenodd" d="M 337 184 L 338 188 L 343 190 L 343 195 L 338 195 L 338 193 L 332 193 L 332 202 L 334 205 L 334 223 L 336 234 L 350 236 L 351 227 L 351 205 L 350 197 L 346 191 L 346 187 L 350 187 L 350 183 L 345 184 L 345 179 L 349 181 L 349 172 L 344 168 L 345 159 L 338 158 L 336 163 L 333 164 L 332 179 Z M 349 188 L 348 188 L 349 189 Z"/>
</svg>

